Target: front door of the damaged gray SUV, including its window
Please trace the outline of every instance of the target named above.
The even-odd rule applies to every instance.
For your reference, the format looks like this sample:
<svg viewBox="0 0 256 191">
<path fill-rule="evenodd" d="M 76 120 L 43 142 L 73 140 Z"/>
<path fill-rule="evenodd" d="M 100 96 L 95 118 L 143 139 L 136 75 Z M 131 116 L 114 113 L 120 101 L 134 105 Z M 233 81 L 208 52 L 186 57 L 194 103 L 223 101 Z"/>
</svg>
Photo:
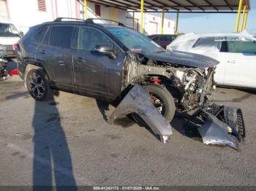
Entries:
<svg viewBox="0 0 256 191">
<path fill-rule="evenodd" d="M 98 44 L 113 46 L 116 58 L 94 51 Z M 124 52 L 102 31 L 81 26 L 75 50 L 75 90 L 95 98 L 114 99 L 121 93 Z"/>
</svg>

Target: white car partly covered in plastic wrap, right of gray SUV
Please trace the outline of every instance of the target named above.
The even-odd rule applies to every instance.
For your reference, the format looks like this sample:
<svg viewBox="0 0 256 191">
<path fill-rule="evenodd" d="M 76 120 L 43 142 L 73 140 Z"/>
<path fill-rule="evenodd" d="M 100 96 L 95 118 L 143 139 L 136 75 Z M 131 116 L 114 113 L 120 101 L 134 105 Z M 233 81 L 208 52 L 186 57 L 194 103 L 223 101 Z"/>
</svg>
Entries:
<svg viewBox="0 0 256 191">
<path fill-rule="evenodd" d="M 186 34 L 178 36 L 167 50 L 195 52 L 217 59 L 214 80 L 218 85 L 256 88 L 256 39 L 240 34 Z"/>
</svg>

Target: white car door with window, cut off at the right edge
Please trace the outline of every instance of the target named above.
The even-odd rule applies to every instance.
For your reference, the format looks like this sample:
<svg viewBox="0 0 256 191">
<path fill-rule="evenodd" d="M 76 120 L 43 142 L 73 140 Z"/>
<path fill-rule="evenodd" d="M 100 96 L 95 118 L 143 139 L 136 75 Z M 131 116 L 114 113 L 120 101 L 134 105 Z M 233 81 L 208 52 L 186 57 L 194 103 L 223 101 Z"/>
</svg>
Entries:
<svg viewBox="0 0 256 191">
<path fill-rule="evenodd" d="M 256 43 L 227 41 L 225 85 L 256 87 Z"/>
</svg>

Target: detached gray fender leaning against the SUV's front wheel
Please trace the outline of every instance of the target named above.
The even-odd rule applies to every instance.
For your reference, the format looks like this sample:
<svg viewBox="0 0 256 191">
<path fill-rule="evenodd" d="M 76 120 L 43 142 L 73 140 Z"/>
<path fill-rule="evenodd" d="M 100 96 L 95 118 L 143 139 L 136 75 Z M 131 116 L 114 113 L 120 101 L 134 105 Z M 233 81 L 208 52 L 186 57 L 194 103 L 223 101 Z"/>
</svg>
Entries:
<svg viewBox="0 0 256 191">
<path fill-rule="evenodd" d="M 127 114 L 138 114 L 151 130 L 160 136 L 163 143 L 173 134 L 170 123 L 162 117 L 152 104 L 151 97 L 140 85 L 135 85 L 127 93 L 115 111 L 110 115 L 108 122 L 113 123 L 117 118 L 126 117 Z"/>
</svg>

